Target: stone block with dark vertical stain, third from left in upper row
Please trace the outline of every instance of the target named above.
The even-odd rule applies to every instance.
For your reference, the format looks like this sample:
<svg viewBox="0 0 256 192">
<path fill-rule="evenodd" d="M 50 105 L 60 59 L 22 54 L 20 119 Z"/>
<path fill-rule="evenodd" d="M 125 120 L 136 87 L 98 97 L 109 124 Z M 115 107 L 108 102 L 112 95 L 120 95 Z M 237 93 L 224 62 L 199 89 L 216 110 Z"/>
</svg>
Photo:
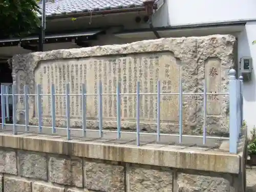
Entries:
<svg viewBox="0 0 256 192">
<path fill-rule="evenodd" d="M 63 185 L 82 187 L 82 160 L 65 156 L 49 158 L 49 180 Z"/>
</svg>

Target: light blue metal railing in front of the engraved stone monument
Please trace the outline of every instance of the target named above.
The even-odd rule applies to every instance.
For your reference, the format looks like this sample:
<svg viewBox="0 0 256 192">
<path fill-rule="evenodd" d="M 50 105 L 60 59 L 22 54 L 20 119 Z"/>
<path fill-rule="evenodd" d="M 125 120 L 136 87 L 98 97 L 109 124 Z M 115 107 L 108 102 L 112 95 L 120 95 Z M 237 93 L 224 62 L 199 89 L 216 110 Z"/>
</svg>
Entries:
<svg viewBox="0 0 256 192">
<path fill-rule="evenodd" d="M 161 119 L 160 119 L 160 102 L 161 102 L 161 96 L 162 95 L 178 95 L 179 96 L 179 143 L 182 143 L 182 138 L 186 137 L 186 135 L 183 135 L 183 95 L 202 95 L 203 96 L 203 136 L 193 136 L 193 137 L 202 137 L 203 144 L 206 144 L 206 138 L 215 138 L 211 136 L 207 136 L 206 132 L 206 109 L 207 109 L 207 96 L 209 95 L 229 95 L 229 152 L 230 153 L 237 153 L 238 151 L 238 142 L 239 138 L 241 136 L 241 127 L 243 124 L 243 77 L 239 77 L 239 79 L 236 79 L 236 71 L 231 69 L 229 71 L 229 93 L 208 93 L 206 90 L 206 80 L 204 81 L 204 91 L 202 93 L 184 93 L 182 90 L 182 79 L 180 80 L 180 86 L 179 86 L 179 93 L 161 93 L 160 89 L 160 81 L 157 82 L 157 93 L 140 93 L 140 82 L 137 82 L 137 91 L 136 93 L 121 93 L 121 84 L 120 82 L 117 83 L 117 90 L 116 93 L 108 94 L 108 93 L 102 93 L 102 83 L 99 81 L 98 83 L 98 93 L 87 93 L 85 84 L 82 83 L 81 85 L 81 93 L 80 94 L 71 94 L 70 93 L 70 83 L 66 84 L 66 93 L 65 94 L 56 94 L 55 93 L 55 86 L 54 84 L 51 85 L 51 93 L 49 94 L 42 94 L 41 85 L 37 84 L 36 86 L 36 94 L 29 94 L 28 85 L 24 86 L 24 94 L 17 94 L 16 93 L 16 86 L 12 86 L 12 93 L 8 93 L 7 89 L 4 85 L 1 85 L 1 104 L 2 104 L 2 128 L 5 128 L 6 119 L 11 118 L 9 115 L 9 104 L 8 98 L 9 96 L 12 97 L 12 125 L 13 126 L 13 134 L 17 134 L 17 125 L 19 126 L 25 126 L 25 130 L 29 131 L 29 127 L 38 127 L 38 132 L 42 133 L 42 129 L 44 127 L 52 129 L 52 133 L 56 133 L 56 129 L 60 129 L 60 127 L 56 127 L 56 109 L 55 109 L 55 98 L 56 96 L 63 96 L 66 98 L 66 129 L 67 129 L 67 139 L 71 138 L 71 118 L 70 118 L 70 96 L 80 96 L 81 97 L 81 104 L 82 104 L 82 110 L 81 110 L 81 119 L 82 119 L 82 133 L 83 137 L 87 136 L 87 131 L 92 131 L 88 129 L 87 127 L 87 100 L 88 96 L 98 96 L 98 132 L 99 137 L 103 137 L 103 110 L 102 110 L 102 96 L 104 95 L 112 95 L 116 97 L 116 105 L 117 105 L 117 111 L 116 111 L 116 123 L 117 123 L 117 139 L 121 138 L 121 96 L 127 96 L 127 95 L 133 95 L 136 96 L 136 143 L 139 146 L 140 145 L 140 135 L 142 134 L 152 134 L 156 135 L 156 140 L 161 141 L 161 135 L 174 135 L 174 134 L 161 134 L 160 133 L 160 125 L 161 125 Z M 156 133 L 141 133 L 140 132 L 140 96 L 143 95 L 155 95 L 157 96 L 157 109 L 156 109 Z M 17 103 L 17 97 L 23 96 L 25 99 L 25 125 L 17 124 L 17 109 L 16 104 Z M 29 125 L 29 97 L 34 96 L 36 98 L 37 103 L 37 114 L 38 114 L 38 125 Z M 42 97 L 43 96 L 50 96 L 51 97 L 51 119 L 52 119 L 52 126 L 43 126 L 42 120 Z M 6 113 L 7 112 L 7 113 Z M 225 117 L 223 117 L 225 118 Z M 62 128 L 63 129 L 63 128 Z M 95 130 L 94 130 L 95 131 Z M 134 133 L 134 132 L 130 132 Z"/>
</svg>

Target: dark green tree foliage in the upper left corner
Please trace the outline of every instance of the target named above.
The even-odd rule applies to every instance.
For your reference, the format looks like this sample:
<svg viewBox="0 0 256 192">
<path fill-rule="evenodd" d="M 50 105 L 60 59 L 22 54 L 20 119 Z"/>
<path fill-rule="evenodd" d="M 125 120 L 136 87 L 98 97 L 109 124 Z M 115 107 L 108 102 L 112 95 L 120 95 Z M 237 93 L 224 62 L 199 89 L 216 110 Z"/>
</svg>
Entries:
<svg viewBox="0 0 256 192">
<path fill-rule="evenodd" d="M 0 0 L 0 37 L 25 36 L 40 25 L 36 0 Z"/>
</svg>

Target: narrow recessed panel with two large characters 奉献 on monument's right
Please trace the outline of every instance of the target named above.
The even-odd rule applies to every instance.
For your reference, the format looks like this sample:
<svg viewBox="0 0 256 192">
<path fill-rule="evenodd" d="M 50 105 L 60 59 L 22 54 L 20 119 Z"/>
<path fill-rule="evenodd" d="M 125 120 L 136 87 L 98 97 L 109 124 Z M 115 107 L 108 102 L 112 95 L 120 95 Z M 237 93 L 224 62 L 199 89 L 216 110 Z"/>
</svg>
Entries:
<svg viewBox="0 0 256 192">
<path fill-rule="evenodd" d="M 221 114 L 221 61 L 217 58 L 209 58 L 205 62 L 205 78 L 207 92 L 207 115 Z"/>
</svg>

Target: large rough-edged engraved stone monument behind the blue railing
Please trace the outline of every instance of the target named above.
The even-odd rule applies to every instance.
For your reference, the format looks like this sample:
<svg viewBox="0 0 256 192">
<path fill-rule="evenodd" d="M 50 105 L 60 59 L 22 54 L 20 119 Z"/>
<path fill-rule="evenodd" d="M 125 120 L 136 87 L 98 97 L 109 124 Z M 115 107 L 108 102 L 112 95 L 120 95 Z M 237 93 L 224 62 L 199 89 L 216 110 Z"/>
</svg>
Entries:
<svg viewBox="0 0 256 192">
<path fill-rule="evenodd" d="M 97 92 L 97 82 L 103 83 L 104 93 L 116 93 L 116 82 L 121 82 L 122 93 L 133 93 L 136 81 L 141 81 L 141 92 L 156 92 L 157 80 L 161 81 L 161 91 L 178 92 L 182 77 L 183 92 L 198 93 L 203 91 L 204 79 L 209 81 L 209 92 L 226 92 L 228 89 L 228 69 L 233 65 L 233 44 L 236 39 L 230 35 L 211 35 L 205 37 L 161 38 L 133 42 L 125 45 L 109 45 L 82 49 L 54 50 L 13 57 L 13 81 L 18 91 L 23 92 L 23 85 L 29 85 L 29 92 L 35 93 L 34 84 L 42 84 L 45 94 L 50 93 L 50 84 L 55 83 L 58 94 L 66 91 L 66 83 L 71 83 L 72 94 L 81 92 L 80 83 L 90 82 L 87 89 Z M 154 54 L 153 54 L 154 53 Z M 109 56 L 111 55 L 111 56 Z M 143 66 L 143 67 L 142 67 Z M 181 66 L 181 67 L 179 67 Z M 179 73 L 180 72 L 180 73 Z M 214 76 L 213 76 L 214 75 Z M 94 82 L 92 84 L 92 82 Z M 215 85 L 215 86 L 214 86 Z M 58 88 L 58 89 L 57 89 Z M 88 97 L 88 126 L 96 127 L 97 98 Z M 207 133 L 224 135 L 228 133 L 228 97 L 211 95 L 207 106 Z M 184 95 L 183 131 L 201 134 L 203 124 L 203 96 Z M 65 106 L 63 97 L 56 96 L 56 125 L 65 126 Z M 23 121 L 24 99 L 18 102 L 18 118 Z M 29 99 L 30 123 L 37 124 L 36 102 Z M 50 104 L 50 97 L 42 99 L 43 105 Z M 116 98 L 103 98 L 103 127 L 113 128 L 116 123 Z M 122 119 L 131 123 L 122 126 L 135 130 L 136 104 L 133 96 L 125 96 L 121 103 Z M 163 96 L 161 102 L 161 132 L 178 132 L 178 96 Z M 44 125 L 51 125 L 50 111 L 45 108 Z M 150 124 L 156 120 L 156 97 L 141 97 L 141 129 L 155 131 Z M 218 114 L 218 115 L 216 115 Z M 134 122 L 133 122 L 134 121 Z M 71 96 L 71 126 L 81 126 L 80 96 Z"/>
</svg>

